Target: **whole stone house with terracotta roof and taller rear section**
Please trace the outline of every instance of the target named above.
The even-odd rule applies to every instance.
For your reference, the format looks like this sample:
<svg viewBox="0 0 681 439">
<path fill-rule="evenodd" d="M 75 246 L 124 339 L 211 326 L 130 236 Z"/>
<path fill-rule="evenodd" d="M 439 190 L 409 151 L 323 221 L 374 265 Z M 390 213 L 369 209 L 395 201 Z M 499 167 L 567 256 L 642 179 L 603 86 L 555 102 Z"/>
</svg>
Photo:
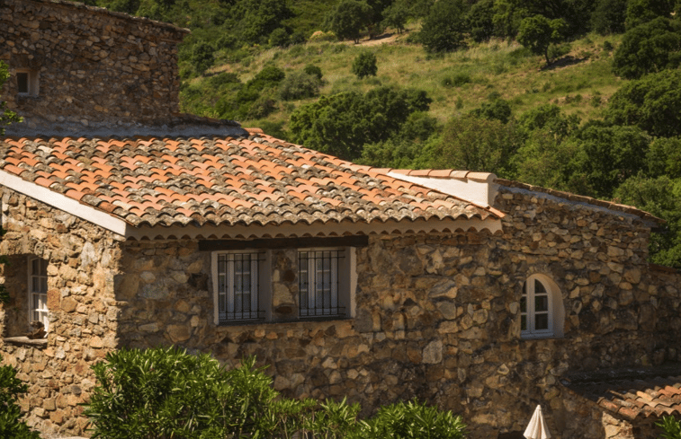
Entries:
<svg viewBox="0 0 681 439">
<path fill-rule="evenodd" d="M 0 4 L 1 95 L 25 120 L 0 138 L 0 352 L 30 383 L 31 425 L 84 434 L 90 365 L 169 344 L 255 355 L 278 391 L 365 414 L 426 399 L 471 437 L 513 437 L 536 404 L 562 438 L 654 437 L 681 413 L 681 279 L 647 262 L 658 218 L 179 114 L 184 33 Z M 33 320 L 45 338 L 24 337 Z"/>
</svg>

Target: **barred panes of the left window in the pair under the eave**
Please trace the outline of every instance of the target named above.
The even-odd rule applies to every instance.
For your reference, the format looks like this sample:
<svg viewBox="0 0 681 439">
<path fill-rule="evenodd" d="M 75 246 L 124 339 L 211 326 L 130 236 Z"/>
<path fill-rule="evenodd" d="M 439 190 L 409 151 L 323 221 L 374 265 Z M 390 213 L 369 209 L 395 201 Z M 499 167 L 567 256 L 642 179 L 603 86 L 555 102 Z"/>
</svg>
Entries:
<svg viewBox="0 0 681 439">
<path fill-rule="evenodd" d="M 261 256 L 256 252 L 218 253 L 215 278 L 219 322 L 263 317 L 258 288 Z"/>
</svg>

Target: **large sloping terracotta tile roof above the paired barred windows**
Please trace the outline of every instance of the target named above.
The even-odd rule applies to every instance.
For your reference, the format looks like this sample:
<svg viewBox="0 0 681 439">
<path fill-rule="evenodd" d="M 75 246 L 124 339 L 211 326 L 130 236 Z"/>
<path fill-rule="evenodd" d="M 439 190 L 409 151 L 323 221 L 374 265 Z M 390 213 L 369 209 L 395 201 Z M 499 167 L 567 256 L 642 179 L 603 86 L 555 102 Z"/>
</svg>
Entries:
<svg viewBox="0 0 681 439">
<path fill-rule="evenodd" d="M 345 162 L 259 130 L 250 133 L 250 138 L 7 137 L 0 139 L 0 169 L 133 225 L 502 215 L 394 179 L 388 169 Z"/>
</svg>

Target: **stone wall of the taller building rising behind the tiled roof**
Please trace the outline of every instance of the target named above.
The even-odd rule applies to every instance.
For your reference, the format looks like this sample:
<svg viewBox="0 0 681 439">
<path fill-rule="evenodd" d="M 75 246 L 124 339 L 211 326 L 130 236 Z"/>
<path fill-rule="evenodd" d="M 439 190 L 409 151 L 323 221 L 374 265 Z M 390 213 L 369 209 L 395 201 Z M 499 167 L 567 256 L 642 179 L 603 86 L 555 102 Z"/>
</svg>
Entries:
<svg viewBox="0 0 681 439">
<path fill-rule="evenodd" d="M 4 0 L 0 60 L 11 78 L 0 95 L 28 124 L 167 120 L 179 110 L 177 44 L 184 33 L 84 4 Z M 22 69 L 35 75 L 36 95 L 17 93 Z"/>
</svg>

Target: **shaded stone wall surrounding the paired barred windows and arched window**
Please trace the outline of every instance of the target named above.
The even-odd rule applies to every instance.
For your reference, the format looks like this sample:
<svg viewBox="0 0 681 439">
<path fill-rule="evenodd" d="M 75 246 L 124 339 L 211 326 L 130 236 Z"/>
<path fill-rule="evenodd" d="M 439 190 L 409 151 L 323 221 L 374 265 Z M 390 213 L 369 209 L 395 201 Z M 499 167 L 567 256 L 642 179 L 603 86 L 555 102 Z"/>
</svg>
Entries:
<svg viewBox="0 0 681 439">
<path fill-rule="evenodd" d="M 650 228 L 633 215 L 503 187 L 497 208 L 508 215 L 495 235 L 372 236 L 355 250 L 354 320 L 216 326 L 208 253 L 126 242 L 121 343 L 175 343 L 228 364 L 255 355 L 284 394 L 347 396 L 364 415 L 427 399 L 461 413 L 471 437 L 523 431 L 538 403 L 556 437 L 585 437 L 581 423 L 605 437 L 620 421 L 585 410 L 560 377 L 681 360 L 678 278 L 650 272 Z M 563 338 L 520 338 L 524 280 L 538 273 L 560 287 Z"/>
</svg>

